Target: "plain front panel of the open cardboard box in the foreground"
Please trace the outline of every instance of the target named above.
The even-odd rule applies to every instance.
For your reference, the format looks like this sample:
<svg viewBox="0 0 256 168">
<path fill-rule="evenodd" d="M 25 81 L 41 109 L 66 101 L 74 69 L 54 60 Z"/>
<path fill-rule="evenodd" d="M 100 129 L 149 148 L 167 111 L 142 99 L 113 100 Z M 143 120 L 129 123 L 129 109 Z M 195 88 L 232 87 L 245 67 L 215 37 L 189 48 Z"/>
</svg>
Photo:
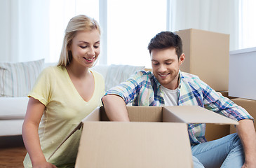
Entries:
<svg viewBox="0 0 256 168">
<path fill-rule="evenodd" d="M 193 167 L 187 124 L 85 122 L 75 167 Z"/>
</svg>

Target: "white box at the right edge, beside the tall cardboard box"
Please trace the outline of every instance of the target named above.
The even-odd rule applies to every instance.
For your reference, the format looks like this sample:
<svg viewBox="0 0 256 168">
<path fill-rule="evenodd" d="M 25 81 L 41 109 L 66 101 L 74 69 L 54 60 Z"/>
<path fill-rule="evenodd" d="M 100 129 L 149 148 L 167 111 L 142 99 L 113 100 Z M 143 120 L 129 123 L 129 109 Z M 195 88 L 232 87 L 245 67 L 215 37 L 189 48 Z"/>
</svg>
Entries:
<svg viewBox="0 0 256 168">
<path fill-rule="evenodd" d="M 256 100 L 256 48 L 229 52 L 229 95 Z"/>
</svg>

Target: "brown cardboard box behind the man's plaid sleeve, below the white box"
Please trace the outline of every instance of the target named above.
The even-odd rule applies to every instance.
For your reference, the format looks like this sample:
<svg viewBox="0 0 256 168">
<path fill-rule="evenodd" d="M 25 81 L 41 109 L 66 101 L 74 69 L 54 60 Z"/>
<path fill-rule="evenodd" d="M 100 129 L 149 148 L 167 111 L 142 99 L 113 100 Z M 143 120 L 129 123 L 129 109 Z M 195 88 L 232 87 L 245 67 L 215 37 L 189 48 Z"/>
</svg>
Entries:
<svg viewBox="0 0 256 168">
<path fill-rule="evenodd" d="M 254 121 L 256 119 L 256 100 L 251 100 L 251 99 L 242 99 L 242 98 L 236 98 L 236 99 L 231 99 L 235 104 L 238 106 L 243 107 L 252 118 L 254 118 Z M 254 127 L 256 130 L 256 122 L 254 122 Z M 230 133 L 236 132 L 236 128 L 234 125 L 230 126 Z"/>
</svg>

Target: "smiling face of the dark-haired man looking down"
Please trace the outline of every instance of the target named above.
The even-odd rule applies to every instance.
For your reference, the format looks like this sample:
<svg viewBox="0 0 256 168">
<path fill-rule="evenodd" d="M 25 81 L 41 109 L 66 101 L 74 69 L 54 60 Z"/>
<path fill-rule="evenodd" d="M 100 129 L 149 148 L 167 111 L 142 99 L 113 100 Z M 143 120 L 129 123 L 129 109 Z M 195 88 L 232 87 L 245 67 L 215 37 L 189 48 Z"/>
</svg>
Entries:
<svg viewBox="0 0 256 168">
<path fill-rule="evenodd" d="M 164 48 L 151 50 L 151 64 L 154 76 L 159 83 L 170 90 L 178 86 L 180 65 L 184 61 L 184 54 L 177 58 L 175 48 Z"/>
</svg>

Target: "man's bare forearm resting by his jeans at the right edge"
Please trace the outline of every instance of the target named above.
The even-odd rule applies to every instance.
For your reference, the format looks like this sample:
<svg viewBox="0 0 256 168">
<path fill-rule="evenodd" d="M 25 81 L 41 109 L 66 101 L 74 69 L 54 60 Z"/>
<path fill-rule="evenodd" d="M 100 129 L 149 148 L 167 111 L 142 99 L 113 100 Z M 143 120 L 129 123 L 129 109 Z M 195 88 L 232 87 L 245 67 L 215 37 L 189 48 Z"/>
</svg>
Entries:
<svg viewBox="0 0 256 168">
<path fill-rule="evenodd" d="M 245 167 L 256 167 L 256 132 L 252 120 L 239 120 L 239 125 L 236 126 L 243 151 L 245 152 Z"/>
</svg>

